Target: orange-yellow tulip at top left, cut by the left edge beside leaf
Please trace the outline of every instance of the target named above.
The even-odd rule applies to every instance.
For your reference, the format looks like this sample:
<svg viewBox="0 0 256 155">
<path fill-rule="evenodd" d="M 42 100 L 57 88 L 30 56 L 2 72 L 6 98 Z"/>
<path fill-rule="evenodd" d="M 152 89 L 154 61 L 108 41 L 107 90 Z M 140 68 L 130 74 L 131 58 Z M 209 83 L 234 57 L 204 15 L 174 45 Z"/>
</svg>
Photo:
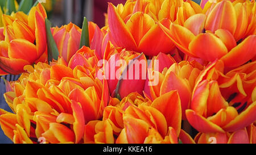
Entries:
<svg viewBox="0 0 256 155">
<path fill-rule="evenodd" d="M 28 15 L 2 15 L 5 39 L 0 42 L 0 74 L 20 74 L 46 51 L 46 11 L 39 3 Z"/>
</svg>

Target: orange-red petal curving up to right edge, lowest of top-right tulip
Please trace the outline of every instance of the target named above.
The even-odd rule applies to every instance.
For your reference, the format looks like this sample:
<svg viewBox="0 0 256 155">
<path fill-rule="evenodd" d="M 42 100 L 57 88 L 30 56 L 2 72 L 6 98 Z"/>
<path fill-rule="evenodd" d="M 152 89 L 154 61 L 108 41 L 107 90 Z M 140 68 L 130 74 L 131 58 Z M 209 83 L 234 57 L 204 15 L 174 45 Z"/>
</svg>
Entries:
<svg viewBox="0 0 256 155">
<path fill-rule="evenodd" d="M 234 47 L 221 60 L 227 67 L 236 67 L 245 64 L 254 56 L 256 56 L 256 35 L 251 35 L 246 37 L 242 43 Z"/>
</svg>

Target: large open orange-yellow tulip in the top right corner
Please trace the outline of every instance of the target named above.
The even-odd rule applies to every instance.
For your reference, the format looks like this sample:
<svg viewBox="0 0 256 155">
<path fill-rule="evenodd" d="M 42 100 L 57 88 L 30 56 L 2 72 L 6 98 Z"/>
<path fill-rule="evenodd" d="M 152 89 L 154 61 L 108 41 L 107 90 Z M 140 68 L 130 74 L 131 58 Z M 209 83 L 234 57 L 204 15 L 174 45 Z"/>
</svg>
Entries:
<svg viewBox="0 0 256 155">
<path fill-rule="evenodd" d="M 222 60 L 225 68 L 245 64 L 256 54 L 256 3 L 208 2 L 205 14 L 195 14 L 184 24 L 160 27 L 185 54 L 206 61 Z"/>
</svg>

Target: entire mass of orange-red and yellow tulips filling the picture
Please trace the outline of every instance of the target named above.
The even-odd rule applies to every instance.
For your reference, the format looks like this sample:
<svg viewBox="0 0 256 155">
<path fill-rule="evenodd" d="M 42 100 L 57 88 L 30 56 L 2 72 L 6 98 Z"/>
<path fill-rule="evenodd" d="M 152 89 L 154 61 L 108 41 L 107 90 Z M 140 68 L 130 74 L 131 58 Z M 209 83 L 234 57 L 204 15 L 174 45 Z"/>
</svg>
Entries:
<svg viewBox="0 0 256 155">
<path fill-rule="evenodd" d="M 14 143 L 256 143 L 255 0 L 109 3 L 102 28 L 51 27 L 38 3 L 1 22 Z"/>
</svg>

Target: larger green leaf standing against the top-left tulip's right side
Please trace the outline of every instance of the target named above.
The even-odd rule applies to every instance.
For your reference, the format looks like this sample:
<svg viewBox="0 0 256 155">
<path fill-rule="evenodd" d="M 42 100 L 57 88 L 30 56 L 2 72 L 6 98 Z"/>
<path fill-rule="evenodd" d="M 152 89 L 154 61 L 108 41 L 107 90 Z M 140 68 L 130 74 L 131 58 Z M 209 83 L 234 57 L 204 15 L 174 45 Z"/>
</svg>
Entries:
<svg viewBox="0 0 256 155">
<path fill-rule="evenodd" d="M 59 57 L 59 50 L 53 39 L 51 32 L 51 22 L 46 18 L 46 35 L 47 35 L 47 45 L 48 45 L 48 62 L 52 59 L 57 60 Z"/>
</svg>

